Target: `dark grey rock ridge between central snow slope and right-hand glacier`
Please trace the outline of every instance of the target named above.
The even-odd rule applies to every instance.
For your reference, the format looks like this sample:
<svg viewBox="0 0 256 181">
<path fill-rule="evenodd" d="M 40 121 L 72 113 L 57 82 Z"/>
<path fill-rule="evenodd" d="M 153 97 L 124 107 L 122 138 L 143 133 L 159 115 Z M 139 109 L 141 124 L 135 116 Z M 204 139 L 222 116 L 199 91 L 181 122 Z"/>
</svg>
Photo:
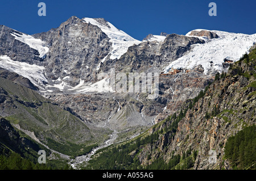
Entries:
<svg viewBox="0 0 256 181">
<path fill-rule="evenodd" d="M 183 35 L 167 35 L 163 42 L 146 41 L 134 45 L 115 62 L 118 71 L 146 71 L 150 68 L 160 68 L 165 62 L 170 62 L 183 56 L 192 44 L 204 43 L 197 37 Z M 107 63 L 107 62 L 106 62 Z"/>
</svg>

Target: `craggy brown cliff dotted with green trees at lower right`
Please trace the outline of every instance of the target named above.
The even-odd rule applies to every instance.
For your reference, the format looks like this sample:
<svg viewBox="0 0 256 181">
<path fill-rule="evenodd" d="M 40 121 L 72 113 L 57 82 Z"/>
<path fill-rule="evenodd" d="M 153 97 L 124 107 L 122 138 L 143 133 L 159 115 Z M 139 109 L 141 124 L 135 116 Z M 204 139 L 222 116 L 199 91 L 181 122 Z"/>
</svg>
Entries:
<svg viewBox="0 0 256 181">
<path fill-rule="evenodd" d="M 203 98 L 179 121 L 175 136 L 166 131 L 154 144 L 146 145 L 138 156 L 141 163 L 146 166 L 154 158 L 168 162 L 171 155 L 192 150 L 197 151 L 193 169 L 230 169 L 228 160 L 223 159 L 227 139 L 256 123 L 255 52 L 249 54 L 250 60 L 236 62 L 209 86 Z M 164 120 L 150 133 L 168 130 L 171 123 L 172 119 Z M 150 161 L 147 154 L 151 154 Z"/>
</svg>

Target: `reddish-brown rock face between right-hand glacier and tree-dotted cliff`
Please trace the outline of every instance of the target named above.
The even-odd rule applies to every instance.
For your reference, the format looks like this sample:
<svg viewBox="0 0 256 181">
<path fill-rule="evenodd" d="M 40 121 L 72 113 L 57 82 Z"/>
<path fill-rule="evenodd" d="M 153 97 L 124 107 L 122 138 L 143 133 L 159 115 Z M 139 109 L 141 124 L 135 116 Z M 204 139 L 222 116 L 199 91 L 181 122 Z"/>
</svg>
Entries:
<svg viewBox="0 0 256 181">
<path fill-rule="evenodd" d="M 163 92 L 161 96 L 167 97 L 168 102 L 165 109 L 155 117 L 155 123 L 179 111 L 184 100 L 195 98 L 209 82 L 213 81 L 213 77 L 205 76 L 203 72 L 204 70 L 196 68 L 190 71 L 181 70 L 176 74 L 160 75 L 161 85 L 165 87 L 165 89 L 160 87 L 160 92 Z"/>
</svg>

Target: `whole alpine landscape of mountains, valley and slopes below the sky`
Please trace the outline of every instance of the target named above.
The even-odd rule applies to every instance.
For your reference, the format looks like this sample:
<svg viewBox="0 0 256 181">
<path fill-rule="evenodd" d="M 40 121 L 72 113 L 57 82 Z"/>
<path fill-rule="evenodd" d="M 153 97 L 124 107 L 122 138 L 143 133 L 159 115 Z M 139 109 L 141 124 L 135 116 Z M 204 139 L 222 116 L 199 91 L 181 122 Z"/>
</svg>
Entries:
<svg viewBox="0 0 256 181">
<path fill-rule="evenodd" d="M 76 16 L 35 35 L 0 25 L 0 169 L 255 169 L 255 43 L 201 29 L 136 40 Z M 156 73 L 158 96 L 116 91 L 113 70 Z"/>
</svg>

